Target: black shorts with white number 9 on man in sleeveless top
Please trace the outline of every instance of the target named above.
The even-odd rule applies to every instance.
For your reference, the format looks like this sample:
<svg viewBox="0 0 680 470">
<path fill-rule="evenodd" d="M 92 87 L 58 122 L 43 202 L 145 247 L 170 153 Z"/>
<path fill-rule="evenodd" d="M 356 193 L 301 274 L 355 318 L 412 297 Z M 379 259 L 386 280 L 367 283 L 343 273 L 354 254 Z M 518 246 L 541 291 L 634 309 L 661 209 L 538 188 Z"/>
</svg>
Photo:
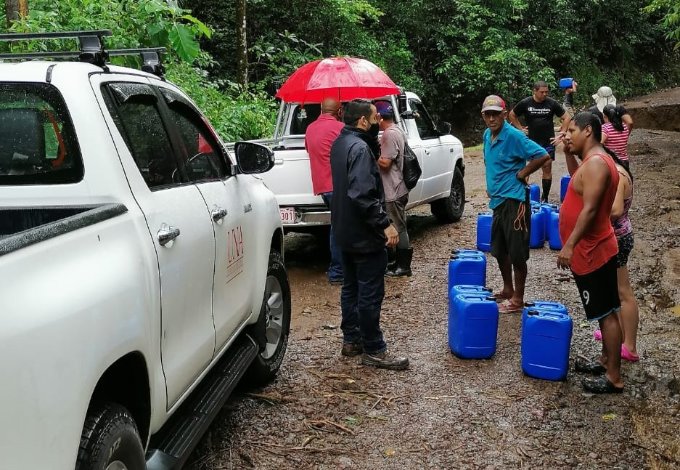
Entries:
<svg viewBox="0 0 680 470">
<path fill-rule="evenodd" d="M 621 309 L 616 281 L 616 256 L 592 273 L 583 276 L 572 274 L 588 320 L 600 320 Z"/>
</svg>

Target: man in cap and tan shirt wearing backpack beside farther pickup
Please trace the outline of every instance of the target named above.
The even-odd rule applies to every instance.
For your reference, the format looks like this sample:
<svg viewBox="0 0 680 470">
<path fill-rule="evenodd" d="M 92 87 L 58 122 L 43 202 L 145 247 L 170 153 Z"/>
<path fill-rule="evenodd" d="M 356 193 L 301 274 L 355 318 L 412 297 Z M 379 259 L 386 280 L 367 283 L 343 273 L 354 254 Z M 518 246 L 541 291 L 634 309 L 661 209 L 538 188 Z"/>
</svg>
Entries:
<svg viewBox="0 0 680 470">
<path fill-rule="evenodd" d="M 383 131 L 380 138 L 378 167 L 385 190 L 385 207 L 387 215 L 399 232 L 394 262 L 388 264 L 385 274 L 392 277 L 410 276 L 413 248 L 406 231 L 408 189 L 403 174 L 406 136 L 394 123 L 394 109 L 389 101 L 376 101 L 375 107 L 380 115 L 380 130 Z"/>
</svg>

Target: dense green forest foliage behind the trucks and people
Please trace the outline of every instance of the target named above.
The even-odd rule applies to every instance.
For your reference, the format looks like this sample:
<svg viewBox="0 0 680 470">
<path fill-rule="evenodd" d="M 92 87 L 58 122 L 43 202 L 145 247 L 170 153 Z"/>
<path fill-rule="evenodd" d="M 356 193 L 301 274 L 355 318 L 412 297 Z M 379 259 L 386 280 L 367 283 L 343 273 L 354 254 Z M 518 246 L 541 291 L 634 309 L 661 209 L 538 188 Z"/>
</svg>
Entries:
<svg viewBox="0 0 680 470">
<path fill-rule="evenodd" d="M 248 0 L 245 86 L 236 3 L 29 0 L 12 30 L 108 28 L 109 46 L 166 46 L 168 76 L 227 140 L 269 134 L 276 88 L 334 55 L 375 62 L 458 129 L 480 124 L 486 94 L 513 103 L 537 79 L 574 77 L 577 106 L 604 84 L 625 98 L 680 79 L 678 0 Z"/>
</svg>

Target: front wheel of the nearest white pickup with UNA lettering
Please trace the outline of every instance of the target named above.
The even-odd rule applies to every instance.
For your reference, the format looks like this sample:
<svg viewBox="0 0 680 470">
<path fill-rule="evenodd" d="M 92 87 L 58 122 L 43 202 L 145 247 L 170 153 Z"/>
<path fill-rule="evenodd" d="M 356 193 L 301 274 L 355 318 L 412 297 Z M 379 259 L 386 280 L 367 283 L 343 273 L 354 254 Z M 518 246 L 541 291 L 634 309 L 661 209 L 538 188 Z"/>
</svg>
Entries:
<svg viewBox="0 0 680 470">
<path fill-rule="evenodd" d="M 267 343 L 260 350 L 250 370 L 248 381 L 265 385 L 276 377 L 288 345 L 290 331 L 290 285 L 283 259 L 277 252 L 269 254 L 269 268 L 260 315 L 264 317 Z"/>
</svg>

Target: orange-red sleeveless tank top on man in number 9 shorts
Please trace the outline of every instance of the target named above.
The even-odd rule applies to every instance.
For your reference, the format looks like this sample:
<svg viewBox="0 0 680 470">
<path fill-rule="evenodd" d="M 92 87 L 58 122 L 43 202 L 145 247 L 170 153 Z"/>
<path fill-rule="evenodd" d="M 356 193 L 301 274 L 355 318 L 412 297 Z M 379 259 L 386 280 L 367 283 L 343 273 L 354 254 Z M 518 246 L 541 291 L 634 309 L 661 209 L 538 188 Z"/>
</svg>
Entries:
<svg viewBox="0 0 680 470">
<path fill-rule="evenodd" d="M 600 207 L 597 208 L 595 220 L 590 230 L 574 247 L 571 270 L 579 276 L 598 270 L 619 251 L 614 228 L 609 220 L 612 204 L 616 197 L 616 189 L 619 186 L 619 173 L 616 170 L 614 160 L 609 155 L 596 153 L 583 160 L 583 163 L 596 156 L 602 158 L 607 164 L 610 180 L 609 187 L 602 198 Z M 576 170 L 574 177 L 578 175 L 579 171 L 581 171 L 581 167 Z M 571 181 L 569 181 L 567 194 L 560 208 L 560 238 L 563 244 L 573 232 L 576 219 L 583 210 L 583 198 L 574 189 L 574 180 L 575 178 L 571 178 Z"/>
</svg>

